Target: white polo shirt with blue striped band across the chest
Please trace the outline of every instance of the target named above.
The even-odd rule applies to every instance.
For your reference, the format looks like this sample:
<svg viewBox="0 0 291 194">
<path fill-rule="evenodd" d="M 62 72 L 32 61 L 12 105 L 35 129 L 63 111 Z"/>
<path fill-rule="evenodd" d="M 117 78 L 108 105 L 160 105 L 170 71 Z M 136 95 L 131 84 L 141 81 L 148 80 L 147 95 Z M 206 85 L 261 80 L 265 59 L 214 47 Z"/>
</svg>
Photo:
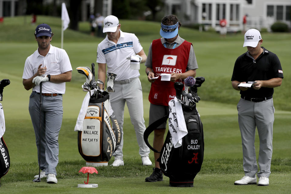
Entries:
<svg viewBox="0 0 291 194">
<path fill-rule="evenodd" d="M 139 39 L 132 33 L 122 32 L 115 44 L 106 38 L 100 42 L 97 48 L 97 63 L 106 63 L 107 72 L 117 74 L 115 80 L 135 78 L 139 76 L 139 70 L 130 69 L 130 60 L 126 59 L 131 55 L 136 55 L 142 50 Z"/>
</svg>

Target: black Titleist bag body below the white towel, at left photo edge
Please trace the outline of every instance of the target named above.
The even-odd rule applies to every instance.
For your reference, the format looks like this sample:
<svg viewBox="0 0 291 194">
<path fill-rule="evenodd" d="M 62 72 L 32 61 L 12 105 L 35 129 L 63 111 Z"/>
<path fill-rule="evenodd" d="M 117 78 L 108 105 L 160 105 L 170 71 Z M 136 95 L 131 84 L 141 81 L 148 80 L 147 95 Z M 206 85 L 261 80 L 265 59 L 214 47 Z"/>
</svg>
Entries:
<svg viewBox="0 0 291 194">
<path fill-rule="evenodd" d="M 7 146 L 3 140 L 3 137 L 0 138 L 0 179 L 4 176 L 10 167 L 10 156 L 7 149 Z"/>
</svg>

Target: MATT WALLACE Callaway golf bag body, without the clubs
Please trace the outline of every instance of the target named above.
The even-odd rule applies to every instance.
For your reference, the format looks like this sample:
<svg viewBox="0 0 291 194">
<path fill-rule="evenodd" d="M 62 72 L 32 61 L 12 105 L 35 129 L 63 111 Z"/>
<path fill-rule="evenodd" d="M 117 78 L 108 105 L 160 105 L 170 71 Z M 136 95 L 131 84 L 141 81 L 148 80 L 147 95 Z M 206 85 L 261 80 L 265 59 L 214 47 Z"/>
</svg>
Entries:
<svg viewBox="0 0 291 194">
<path fill-rule="evenodd" d="M 86 129 L 78 131 L 78 150 L 87 166 L 108 166 L 121 141 L 122 134 L 115 115 L 113 113 L 109 117 L 105 109 L 107 100 L 109 94 L 98 99 L 90 98 L 83 122 Z M 97 138 L 94 138 L 96 135 Z"/>
</svg>

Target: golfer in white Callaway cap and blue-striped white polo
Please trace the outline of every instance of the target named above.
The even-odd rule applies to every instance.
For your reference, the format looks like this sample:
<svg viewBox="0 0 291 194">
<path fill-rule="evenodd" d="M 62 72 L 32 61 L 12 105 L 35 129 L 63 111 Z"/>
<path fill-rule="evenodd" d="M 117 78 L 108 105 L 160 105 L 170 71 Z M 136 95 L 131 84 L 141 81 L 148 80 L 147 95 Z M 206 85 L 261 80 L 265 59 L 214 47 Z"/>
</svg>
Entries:
<svg viewBox="0 0 291 194">
<path fill-rule="evenodd" d="M 110 92 L 110 103 L 121 127 L 122 139 L 119 148 L 114 152 L 115 157 L 112 166 L 123 166 L 123 116 L 125 102 L 127 104 L 130 119 L 135 129 L 136 139 L 139 145 L 139 155 L 142 165 L 152 165 L 149 159 L 149 147 L 143 140 L 146 129 L 143 119 L 142 87 L 139 81 L 139 70 L 131 69 L 129 56 L 136 56 L 140 63 L 146 61 L 146 54 L 139 43 L 139 39 L 132 33 L 122 32 L 117 17 L 107 16 L 103 21 L 103 33 L 106 38 L 98 45 L 98 79 L 105 83 L 106 64 L 108 72 L 117 74 L 114 81 L 115 92 Z"/>
</svg>

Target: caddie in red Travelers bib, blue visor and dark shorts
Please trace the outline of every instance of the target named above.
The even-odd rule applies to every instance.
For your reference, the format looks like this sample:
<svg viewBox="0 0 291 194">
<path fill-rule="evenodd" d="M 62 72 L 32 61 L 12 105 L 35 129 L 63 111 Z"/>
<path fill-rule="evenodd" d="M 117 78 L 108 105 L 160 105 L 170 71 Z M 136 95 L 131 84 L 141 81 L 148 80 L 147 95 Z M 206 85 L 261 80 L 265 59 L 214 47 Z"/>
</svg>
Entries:
<svg viewBox="0 0 291 194">
<path fill-rule="evenodd" d="M 149 93 L 149 125 L 162 118 L 169 112 L 169 101 L 174 99 L 176 90 L 174 82 L 184 80 L 188 76 L 195 77 L 198 69 L 193 45 L 181 38 L 178 30 L 181 22 L 176 15 L 167 15 L 162 18 L 160 35 L 162 38 L 152 41 L 146 60 L 146 74 L 152 83 Z M 170 81 L 161 81 L 161 73 L 171 74 Z M 157 79 L 152 79 L 159 76 Z M 164 122 L 154 131 L 153 148 L 161 150 L 164 144 L 166 131 Z M 163 180 L 163 174 L 159 167 L 159 153 L 154 153 L 155 167 L 146 182 Z"/>
</svg>

